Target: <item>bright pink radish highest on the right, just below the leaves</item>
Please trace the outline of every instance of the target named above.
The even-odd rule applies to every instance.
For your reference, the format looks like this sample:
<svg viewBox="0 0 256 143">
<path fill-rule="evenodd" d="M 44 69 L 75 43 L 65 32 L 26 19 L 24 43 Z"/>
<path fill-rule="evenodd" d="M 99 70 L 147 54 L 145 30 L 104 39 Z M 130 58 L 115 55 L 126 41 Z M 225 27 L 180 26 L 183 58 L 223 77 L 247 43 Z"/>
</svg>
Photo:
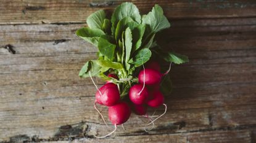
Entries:
<svg viewBox="0 0 256 143">
<path fill-rule="evenodd" d="M 139 83 L 144 83 L 144 70 L 141 70 L 138 75 Z M 145 69 L 145 84 L 156 85 L 161 82 L 162 74 L 154 69 Z"/>
</svg>

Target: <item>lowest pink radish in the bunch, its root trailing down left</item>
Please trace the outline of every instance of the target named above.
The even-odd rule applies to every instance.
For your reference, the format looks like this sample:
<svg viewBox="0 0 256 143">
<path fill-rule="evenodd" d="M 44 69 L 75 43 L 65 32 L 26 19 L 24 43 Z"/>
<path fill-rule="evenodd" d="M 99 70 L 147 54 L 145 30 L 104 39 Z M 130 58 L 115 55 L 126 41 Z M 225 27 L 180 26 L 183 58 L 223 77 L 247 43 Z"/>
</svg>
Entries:
<svg viewBox="0 0 256 143">
<path fill-rule="evenodd" d="M 118 102 L 109 107 L 109 120 L 114 125 L 125 123 L 131 115 L 131 109 L 126 102 Z"/>
</svg>

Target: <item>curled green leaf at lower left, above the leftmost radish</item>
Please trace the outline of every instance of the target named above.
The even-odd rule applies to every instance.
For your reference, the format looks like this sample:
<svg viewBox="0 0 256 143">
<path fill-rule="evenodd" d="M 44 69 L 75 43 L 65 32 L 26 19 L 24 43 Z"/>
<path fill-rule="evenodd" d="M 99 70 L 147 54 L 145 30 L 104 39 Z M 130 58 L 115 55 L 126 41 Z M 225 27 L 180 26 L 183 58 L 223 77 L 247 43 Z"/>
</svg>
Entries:
<svg viewBox="0 0 256 143">
<path fill-rule="evenodd" d="M 95 60 L 90 60 L 87 61 L 85 63 L 85 65 L 81 68 L 80 72 L 79 72 L 79 76 L 86 78 L 89 77 L 89 73 L 91 74 L 91 76 L 96 76 L 99 74 L 101 67 L 96 64 Z"/>
</svg>

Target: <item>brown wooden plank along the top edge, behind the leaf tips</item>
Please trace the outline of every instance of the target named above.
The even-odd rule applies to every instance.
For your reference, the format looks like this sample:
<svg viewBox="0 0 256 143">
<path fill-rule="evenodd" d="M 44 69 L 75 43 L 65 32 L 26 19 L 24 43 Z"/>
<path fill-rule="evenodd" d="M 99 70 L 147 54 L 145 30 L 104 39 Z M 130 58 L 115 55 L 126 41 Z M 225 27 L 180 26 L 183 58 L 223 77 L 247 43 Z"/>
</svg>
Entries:
<svg viewBox="0 0 256 143">
<path fill-rule="evenodd" d="M 112 11 L 125 1 L 8 1 L 2 0 L 0 24 L 20 23 L 81 23 L 96 10 Z M 132 1 L 142 14 L 152 9 L 155 3 L 163 7 L 168 18 L 223 18 L 255 17 L 256 2 L 246 1 Z"/>
</svg>

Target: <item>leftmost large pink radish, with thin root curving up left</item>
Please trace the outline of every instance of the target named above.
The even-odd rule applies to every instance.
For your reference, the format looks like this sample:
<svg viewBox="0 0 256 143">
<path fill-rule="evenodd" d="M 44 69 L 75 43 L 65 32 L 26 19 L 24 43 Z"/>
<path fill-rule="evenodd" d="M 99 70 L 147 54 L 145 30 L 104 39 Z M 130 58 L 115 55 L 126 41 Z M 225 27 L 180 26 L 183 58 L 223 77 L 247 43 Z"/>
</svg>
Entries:
<svg viewBox="0 0 256 143">
<path fill-rule="evenodd" d="M 99 92 L 101 91 L 101 93 Z M 113 106 L 120 99 L 117 85 L 114 83 L 105 83 L 96 93 L 96 102 L 105 106 Z"/>
</svg>

